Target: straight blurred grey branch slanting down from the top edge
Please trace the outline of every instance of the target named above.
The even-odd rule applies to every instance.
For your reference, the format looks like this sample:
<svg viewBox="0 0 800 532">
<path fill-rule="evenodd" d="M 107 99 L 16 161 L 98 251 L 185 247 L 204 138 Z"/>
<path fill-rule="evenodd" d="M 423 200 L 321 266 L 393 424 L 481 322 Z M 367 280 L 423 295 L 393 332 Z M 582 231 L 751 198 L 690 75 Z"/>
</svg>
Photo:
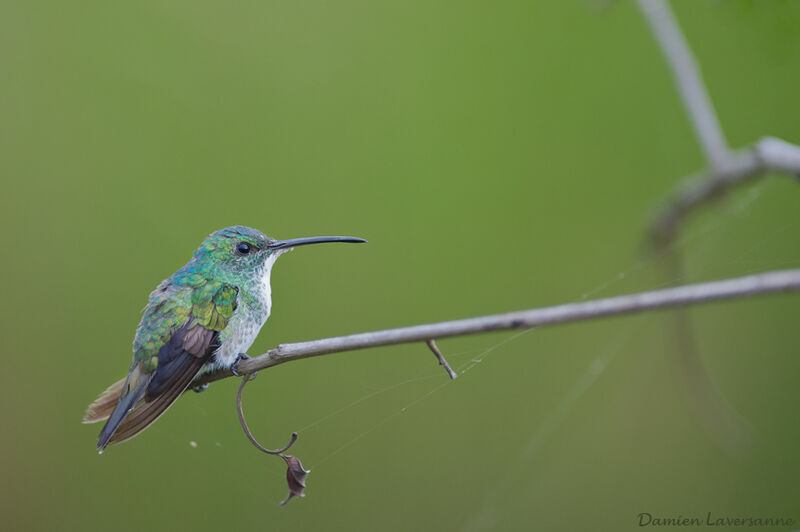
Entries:
<svg viewBox="0 0 800 532">
<path fill-rule="evenodd" d="M 718 171 L 725 166 L 729 157 L 728 145 L 714 112 L 714 105 L 703 84 L 700 67 L 666 0 L 638 2 L 672 69 L 686 113 L 692 121 L 709 166 Z"/>
</svg>

